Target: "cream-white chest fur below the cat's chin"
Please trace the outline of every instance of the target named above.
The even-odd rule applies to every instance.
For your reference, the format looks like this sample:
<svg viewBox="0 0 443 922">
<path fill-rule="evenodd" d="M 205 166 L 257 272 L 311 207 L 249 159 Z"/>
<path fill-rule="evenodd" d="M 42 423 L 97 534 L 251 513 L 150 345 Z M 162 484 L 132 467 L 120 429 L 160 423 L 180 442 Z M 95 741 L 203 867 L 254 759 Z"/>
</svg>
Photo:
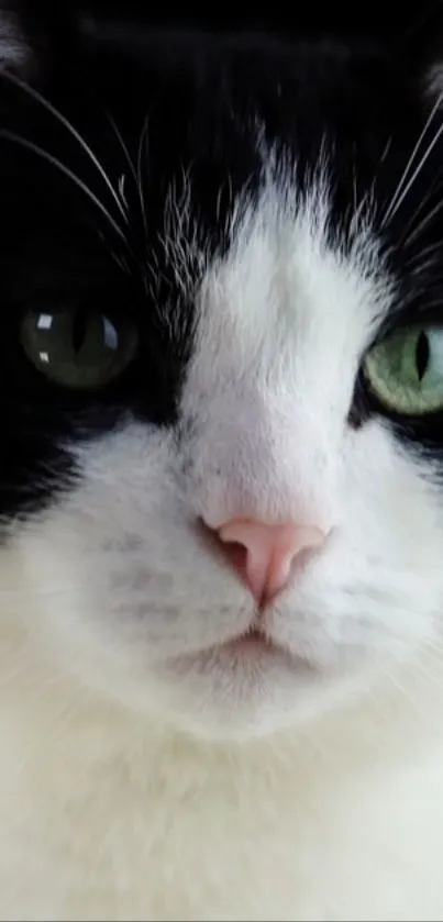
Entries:
<svg viewBox="0 0 443 922">
<path fill-rule="evenodd" d="M 429 740 L 368 767 L 340 726 L 335 748 L 310 751 L 113 721 L 77 722 L 66 702 L 22 735 L 2 715 L 0 919 L 441 918 Z"/>
</svg>

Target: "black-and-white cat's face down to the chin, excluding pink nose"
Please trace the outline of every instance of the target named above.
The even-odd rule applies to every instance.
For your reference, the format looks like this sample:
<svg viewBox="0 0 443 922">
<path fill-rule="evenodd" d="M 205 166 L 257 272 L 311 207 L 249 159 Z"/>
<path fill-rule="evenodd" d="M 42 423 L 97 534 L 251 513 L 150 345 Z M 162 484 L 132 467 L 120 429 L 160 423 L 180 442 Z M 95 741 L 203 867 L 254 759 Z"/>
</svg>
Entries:
<svg viewBox="0 0 443 922">
<path fill-rule="evenodd" d="M 436 71 L 95 20 L 38 60 L 26 27 L 0 32 L 1 616 L 203 735 L 368 691 L 442 630 Z M 322 535 L 266 606 L 237 519 Z"/>
</svg>

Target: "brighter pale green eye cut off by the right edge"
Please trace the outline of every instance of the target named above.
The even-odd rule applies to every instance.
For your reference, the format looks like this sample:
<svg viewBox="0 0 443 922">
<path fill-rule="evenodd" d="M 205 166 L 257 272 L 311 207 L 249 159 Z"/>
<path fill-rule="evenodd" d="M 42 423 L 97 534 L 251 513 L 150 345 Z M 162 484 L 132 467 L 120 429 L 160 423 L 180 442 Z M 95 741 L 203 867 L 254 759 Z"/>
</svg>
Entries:
<svg viewBox="0 0 443 922">
<path fill-rule="evenodd" d="M 443 327 L 398 330 L 370 349 L 364 374 L 375 397 L 396 413 L 443 410 Z"/>
</svg>

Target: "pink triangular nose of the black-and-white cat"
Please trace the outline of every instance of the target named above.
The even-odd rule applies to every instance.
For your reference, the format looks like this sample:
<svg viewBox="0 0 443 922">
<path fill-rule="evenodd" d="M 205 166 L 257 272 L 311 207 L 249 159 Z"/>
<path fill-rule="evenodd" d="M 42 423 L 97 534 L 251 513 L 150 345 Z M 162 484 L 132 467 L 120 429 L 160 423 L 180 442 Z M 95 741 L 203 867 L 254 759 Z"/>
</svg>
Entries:
<svg viewBox="0 0 443 922">
<path fill-rule="evenodd" d="M 269 525 L 234 519 L 219 529 L 224 553 L 259 606 L 288 585 L 297 566 L 318 551 L 324 533 L 315 525 Z"/>
</svg>

